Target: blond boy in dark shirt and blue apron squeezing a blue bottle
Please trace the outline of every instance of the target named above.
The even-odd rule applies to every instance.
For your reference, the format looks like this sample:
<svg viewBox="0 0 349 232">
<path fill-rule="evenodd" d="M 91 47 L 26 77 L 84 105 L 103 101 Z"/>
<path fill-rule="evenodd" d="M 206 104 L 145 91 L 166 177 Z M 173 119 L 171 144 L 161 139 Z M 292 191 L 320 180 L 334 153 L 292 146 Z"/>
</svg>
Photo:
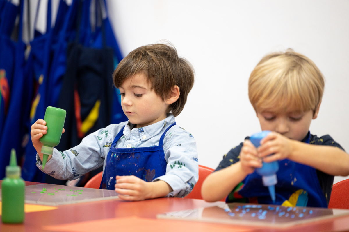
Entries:
<svg viewBox="0 0 349 232">
<path fill-rule="evenodd" d="M 278 160 L 276 204 L 327 207 L 335 175 L 349 175 L 349 156 L 331 136 L 310 134 L 319 113 L 324 78 L 306 56 L 288 49 L 266 55 L 248 81 L 248 96 L 262 130 L 272 131 L 256 149 L 249 140 L 224 155 L 202 185 L 207 201 L 273 203 L 255 168 Z"/>
</svg>

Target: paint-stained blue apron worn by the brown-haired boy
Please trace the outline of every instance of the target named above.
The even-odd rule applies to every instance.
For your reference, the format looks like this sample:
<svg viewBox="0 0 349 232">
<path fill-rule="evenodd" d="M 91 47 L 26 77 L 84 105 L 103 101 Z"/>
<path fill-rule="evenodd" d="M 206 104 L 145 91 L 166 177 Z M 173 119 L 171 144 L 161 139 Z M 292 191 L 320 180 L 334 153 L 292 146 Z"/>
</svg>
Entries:
<svg viewBox="0 0 349 232">
<path fill-rule="evenodd" d="M 165 130 L 158 146 L 116 148 L 117 141 L 124 134 L 124 128 L 122 128 L 114 138 L 106 157 L 102 182 L 99 188 L 114 190 L 117 175 L 134 175 L 147 182 L 165 175 L 167 162 L 163 147 L 164 137 L 166 132 L 174 125 L 176 125 L 176 122 Z M 139 133 L 143 133 L 141 130 L 139 131 Z"/>
</svg>

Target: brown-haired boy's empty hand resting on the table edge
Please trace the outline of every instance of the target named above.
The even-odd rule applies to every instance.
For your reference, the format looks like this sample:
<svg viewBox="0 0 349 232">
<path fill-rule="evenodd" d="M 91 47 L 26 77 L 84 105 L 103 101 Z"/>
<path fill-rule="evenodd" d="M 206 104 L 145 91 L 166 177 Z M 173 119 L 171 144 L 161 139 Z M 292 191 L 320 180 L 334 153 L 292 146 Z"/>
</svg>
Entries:
<svg viewBox="0 0 349 232">
<path fill-rule="evenodd" d="M 152 182 L 146 182 L 136 176 L 116 176 L 115 191 L 119 198 L 126 201 L 141 201 L 151 197 Z"/>
</svg>

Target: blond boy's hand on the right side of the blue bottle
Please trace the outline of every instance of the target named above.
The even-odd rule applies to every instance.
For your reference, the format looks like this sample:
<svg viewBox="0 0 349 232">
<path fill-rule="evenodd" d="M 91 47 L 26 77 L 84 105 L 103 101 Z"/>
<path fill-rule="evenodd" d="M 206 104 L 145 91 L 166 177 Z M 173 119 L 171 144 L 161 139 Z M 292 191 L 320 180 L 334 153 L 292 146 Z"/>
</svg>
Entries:
<svg viewBox="0 0 349 232">
<path fill-rule="evenodd" d="M 289 159 L 293 152 L 293 144 L 294 141 L 292 139 L 279 133 L 271 132 L 261 140 L 261 145 L 257 149 L 258 156 L 263 158 L 264 162 Z"/>
</svg>

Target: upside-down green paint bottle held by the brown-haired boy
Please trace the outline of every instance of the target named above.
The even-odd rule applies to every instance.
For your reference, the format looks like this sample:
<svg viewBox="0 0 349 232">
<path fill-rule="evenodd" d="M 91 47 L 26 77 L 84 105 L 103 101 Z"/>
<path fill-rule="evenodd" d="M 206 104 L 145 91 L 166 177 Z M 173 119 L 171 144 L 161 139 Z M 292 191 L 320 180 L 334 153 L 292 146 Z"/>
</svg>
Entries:
<svg viewBox="0 0 349 232">
<path fill-rule="evenodd" d="M 53 153 L 53 147 L 57 146 L 61 140 L 62 130 L 67 112 L 63 109 L 48 106 L 46 108 L 44 120 L 47 126 L 47 133 L 40 138 L 43 144 L 41 153 L 43 157 L 43 170 L 45 168 L 47 158 Z"/>
</svg>

